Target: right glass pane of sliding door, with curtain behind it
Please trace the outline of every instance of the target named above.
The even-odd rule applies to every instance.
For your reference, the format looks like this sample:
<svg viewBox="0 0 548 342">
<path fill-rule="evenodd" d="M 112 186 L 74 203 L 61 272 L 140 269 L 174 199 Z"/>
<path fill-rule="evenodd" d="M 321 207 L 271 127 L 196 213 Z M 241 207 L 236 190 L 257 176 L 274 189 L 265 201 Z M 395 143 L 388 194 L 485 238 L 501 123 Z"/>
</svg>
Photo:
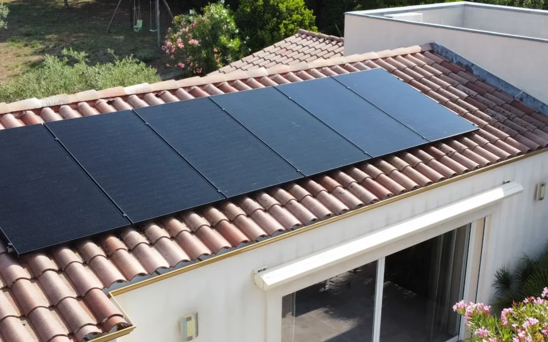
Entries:
<svg viewBox="0 0 548 342">
<path fill-rule="evenodd" d="M 470 225 L 385 258 L 380 342 L 443 342 L 459 333 Z"/>
</svg>

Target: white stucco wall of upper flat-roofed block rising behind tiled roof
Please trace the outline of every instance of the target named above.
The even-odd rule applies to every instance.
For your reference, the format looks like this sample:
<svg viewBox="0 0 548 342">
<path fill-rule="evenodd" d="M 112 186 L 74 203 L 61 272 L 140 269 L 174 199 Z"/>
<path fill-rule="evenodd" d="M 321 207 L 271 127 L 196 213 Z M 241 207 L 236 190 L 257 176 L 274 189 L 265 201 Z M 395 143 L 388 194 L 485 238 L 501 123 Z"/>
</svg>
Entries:
<svg viewBox="0 0 548 342">
<path fill-rule="evenodd" d="M 345 55 L 434 41 L 548 103 L 548 42 L 352 14 L 345 16 Z"/>
</svg>

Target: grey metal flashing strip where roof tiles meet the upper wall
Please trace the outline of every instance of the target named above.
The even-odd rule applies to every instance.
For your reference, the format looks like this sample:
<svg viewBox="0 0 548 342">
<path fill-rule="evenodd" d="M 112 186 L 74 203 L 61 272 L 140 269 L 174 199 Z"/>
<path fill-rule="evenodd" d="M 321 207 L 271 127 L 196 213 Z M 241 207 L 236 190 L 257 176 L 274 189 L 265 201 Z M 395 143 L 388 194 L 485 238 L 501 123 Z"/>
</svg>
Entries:
<svg viewBox="0 0 548 342">
<path fill-rule="evenodd" d="M 458 66 L 461 66 L 465 68 L 466 70 L 470 71 L 474 76 L 477 76 L 478 78 L 483 79 L 487 83 L 496 86 L 500 90 L 505 91 L 507 94 L 517 98 L 524 104 L 526 104 L 529 107 L 532 107 L 539 111 L 540 113 L 543 113 L 544 115 L 548 116 L 548 105 L 546 103 L 540 101 L 538 98 L 529 95 L 526 91 L 523 89 L 519 89 L 516 86 L 513 86 L 512 84 L 506 82 L 504 79 L 496 76 L 492 72 L 488 71 L 485 68 L 482 68 L 481 66 L 478 66 L 476 63 L 473 63 L 467 59 L 465 59 L 463 56 L 460 56 L 459 54 L 454 53 L 453 51 L 447 49 L 443 45 L 432 42 L 430 43 L 432 46 L 432 49 L 435 53 L 438 55 L 441 55 L 445 58 L 447 58 L 450 62 L 455 63 Z"/>
</svg>

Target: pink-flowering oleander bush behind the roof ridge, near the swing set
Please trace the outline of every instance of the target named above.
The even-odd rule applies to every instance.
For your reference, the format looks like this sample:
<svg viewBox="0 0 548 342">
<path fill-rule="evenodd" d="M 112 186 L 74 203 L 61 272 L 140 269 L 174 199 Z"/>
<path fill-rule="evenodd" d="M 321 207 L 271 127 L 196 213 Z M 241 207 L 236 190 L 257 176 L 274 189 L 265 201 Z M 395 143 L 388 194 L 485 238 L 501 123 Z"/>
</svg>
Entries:
<svg viewBox="0 0 548 342">
<path fill-rule="evenodd" d="M 232 11 L 222 1 L 204 7 L 203 14 L 191 10 L 176 16 L 165 38 L 167 66 L 181 68 L 187 75 L 207 74 L 243 56 Z"/>
</svg>

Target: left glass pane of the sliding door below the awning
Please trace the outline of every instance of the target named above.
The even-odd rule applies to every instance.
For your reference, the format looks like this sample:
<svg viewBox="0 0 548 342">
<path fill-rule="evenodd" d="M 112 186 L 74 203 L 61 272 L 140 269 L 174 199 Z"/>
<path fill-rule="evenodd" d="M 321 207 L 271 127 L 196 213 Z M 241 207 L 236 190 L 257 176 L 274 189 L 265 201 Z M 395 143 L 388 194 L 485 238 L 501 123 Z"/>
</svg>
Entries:
<svg viewBox="0 0 548 342">
<path fill-rule="evenodd" d="M 282 342 L 370 342 L 377 262 L 282 298 Z"/>
</svg>

